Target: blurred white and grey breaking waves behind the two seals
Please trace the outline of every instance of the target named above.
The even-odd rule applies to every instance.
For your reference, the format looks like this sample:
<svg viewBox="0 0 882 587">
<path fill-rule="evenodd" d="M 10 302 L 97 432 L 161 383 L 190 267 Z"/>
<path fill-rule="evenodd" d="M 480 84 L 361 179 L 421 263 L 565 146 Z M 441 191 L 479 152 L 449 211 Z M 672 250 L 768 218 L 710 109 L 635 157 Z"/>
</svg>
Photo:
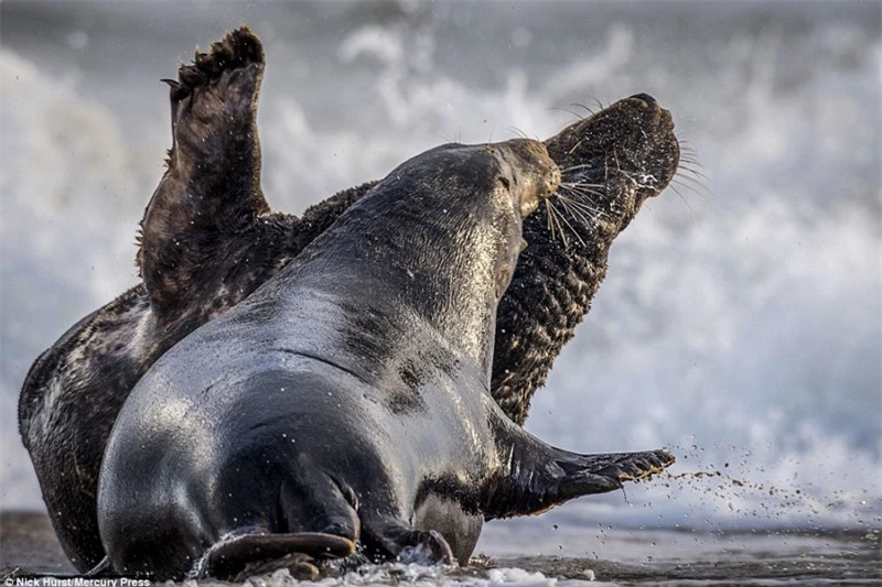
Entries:
<svg viewBox="0 0 882 587">
<path fill-rule="evenodd" d="M 159 79 L 248 23 L 279 210 L 641 91 L 697 151 L 708 180 L 615 242 L 527 423 L 583 452 L 665 445 L 686 475 L 541 523 L 882 526 L 881 20 L 878 2 L 2 2 L 0 507 L 43 508 L 17 432 L 31 362 L 137 283 L 171 143 Z"/>
</svg>

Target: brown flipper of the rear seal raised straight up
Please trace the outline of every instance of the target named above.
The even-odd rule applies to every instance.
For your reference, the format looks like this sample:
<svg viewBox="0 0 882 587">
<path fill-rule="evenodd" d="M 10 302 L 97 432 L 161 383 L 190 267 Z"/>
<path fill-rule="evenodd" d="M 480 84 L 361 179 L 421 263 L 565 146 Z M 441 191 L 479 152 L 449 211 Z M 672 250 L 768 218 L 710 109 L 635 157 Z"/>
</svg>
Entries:
<svg viewBox="0 0 882 587">
<path fill-rule="evenodd" d="M 243 26 L 208 53 L 196 53 L 193 65 L 181 66 L 176 80 L 165 80 L 171 86 L 173 142 L 168 170 L 144 210 L 138 251 L 151 306 L 161 320 L 181 315 L 187 300 L 223 290 L 206 283 L 194 291 L 194 282 L 206 264 L 219 259 L 248 261 L 247 253 L 225 248 L 269 211 L 260 191 L 257 132 L 263 67 L 260 41 Z M 262 236 L 247 239 L 249 248 L 269 240 Z"/>
</svg>

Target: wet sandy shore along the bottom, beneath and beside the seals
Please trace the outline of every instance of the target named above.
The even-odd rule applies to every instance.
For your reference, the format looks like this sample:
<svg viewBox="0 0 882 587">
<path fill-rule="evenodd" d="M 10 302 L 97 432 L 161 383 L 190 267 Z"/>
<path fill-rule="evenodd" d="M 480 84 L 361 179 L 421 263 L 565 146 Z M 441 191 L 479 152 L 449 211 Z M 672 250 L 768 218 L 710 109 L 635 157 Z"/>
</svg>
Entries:
<svg viewBox="0 0 882 587">
<path fill-rule="evenodd" d="M 464 569 L 383 565 L 340 585 L 882 585 L 879 530 L 813 532 L 612 530 L 548 524 L 541 518 L 485 528 L 478 556 Z M 0 578 L 71 575 L 49 518 L 0 513 Z M 290 585 L 273 575 L 260 585 Z"/>
</svg>

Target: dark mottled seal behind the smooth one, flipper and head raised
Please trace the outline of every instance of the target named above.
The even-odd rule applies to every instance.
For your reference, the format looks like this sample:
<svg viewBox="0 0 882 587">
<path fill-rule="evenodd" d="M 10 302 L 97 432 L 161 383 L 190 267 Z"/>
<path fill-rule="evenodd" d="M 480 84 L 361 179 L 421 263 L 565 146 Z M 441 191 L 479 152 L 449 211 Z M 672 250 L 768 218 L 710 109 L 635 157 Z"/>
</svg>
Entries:
<svg viewBox="0 0 882 587">
<path fill-rule="evenodd" d="M 171 90 L 174 146 L 142 222 L 144 283 L 78 322 L 41 355 L 24 382 L 22 438 L 62 546 L 80 570 L 104 556 L 98 470 L 116 415 L 137 381 L 187 333 L 295 258 L 375 185 L 342 192 L 301 218 L 268 211 L 258 181 L 255 116 L 262 70 L 259 41 L 246 29 L 181 68 Z M 497 313 L 491 392 L 515 422 L 523 424 L 533 393 L 588 312 L 612 241 L 676 172 L 673 131 L 666 110 L 635 96 L 546 141 L 564 170 L 563 183 L 525 220 L 527 248 Z M 562 236 L 548 217 L 552 203 Z"/>
</svg>

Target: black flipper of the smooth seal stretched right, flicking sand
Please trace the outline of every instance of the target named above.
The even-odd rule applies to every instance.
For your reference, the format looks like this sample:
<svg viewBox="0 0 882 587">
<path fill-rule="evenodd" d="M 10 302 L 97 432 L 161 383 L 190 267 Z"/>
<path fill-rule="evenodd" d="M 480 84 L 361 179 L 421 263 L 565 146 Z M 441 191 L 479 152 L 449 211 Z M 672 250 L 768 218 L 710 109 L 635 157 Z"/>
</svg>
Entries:
<svg viewBox="0 0 882 587">
<path fill-rule="evenodd" d="M 613 491 L 624 481 L 662 472 L 675 460 L 665 450 L 571 453 L 514 426 L 501 436 L 499 454 L 506 460 L 487 486 L 486 520 L 541 513 L 573 498 Z"/>
</svg>

